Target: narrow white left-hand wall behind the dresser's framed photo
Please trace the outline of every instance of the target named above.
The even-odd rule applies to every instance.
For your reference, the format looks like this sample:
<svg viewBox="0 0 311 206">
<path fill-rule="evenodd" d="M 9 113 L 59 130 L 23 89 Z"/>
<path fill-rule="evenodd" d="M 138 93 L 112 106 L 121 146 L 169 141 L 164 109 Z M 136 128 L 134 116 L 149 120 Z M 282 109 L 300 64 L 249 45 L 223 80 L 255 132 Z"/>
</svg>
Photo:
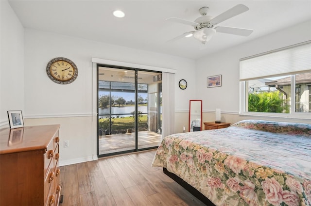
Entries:
<svg viewBox="0 0 311 206">
<path fill-rule="evenodd" d="M 9 3 L 0 1 L 0 127 L 7 111 L 24 111 L 24 29 Z"/>
</svg>

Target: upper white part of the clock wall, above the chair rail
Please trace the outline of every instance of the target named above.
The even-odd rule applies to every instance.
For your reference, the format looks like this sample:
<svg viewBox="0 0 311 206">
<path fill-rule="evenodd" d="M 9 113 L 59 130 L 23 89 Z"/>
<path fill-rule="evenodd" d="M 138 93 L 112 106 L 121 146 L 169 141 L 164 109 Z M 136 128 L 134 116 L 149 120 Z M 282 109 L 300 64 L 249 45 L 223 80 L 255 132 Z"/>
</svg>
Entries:
<svg viewBox="0 0 311 206">
<path fill-rule="evenodd" d="M 46 65 L 55 57 L 66 57 L 77 65 L 79 74 L 73 83 L 60 85 L 48 78 Z M 27 117 L 91 114 L 92 57 L 175 69 L 176 85 L 185 77 L 192 82 L 183 94 L 177 91 L 178 99 L 179 96 L 190 98 L 191 87 L 195 86 L 195 75 L 190 71 L 194 70 L 194 60 L 25 29 Z M 184 109 L 185 105 L 188 107 L 188 103 L 176 101 L 176 110 Z"/>
</svg>

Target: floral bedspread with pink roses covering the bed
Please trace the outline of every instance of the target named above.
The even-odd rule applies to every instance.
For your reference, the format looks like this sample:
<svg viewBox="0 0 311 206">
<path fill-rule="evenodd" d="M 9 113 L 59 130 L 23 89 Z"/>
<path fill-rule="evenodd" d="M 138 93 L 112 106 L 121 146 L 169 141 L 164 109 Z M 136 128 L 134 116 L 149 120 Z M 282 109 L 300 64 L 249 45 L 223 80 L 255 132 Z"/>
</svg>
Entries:
<svg viewBox="0 0 311 206">
<path fill-rule="evenodd" d="M 311 125 L 245 120 L 169 135 L 152 166 L 217 206 L 311 206 Z"/>
</svg>

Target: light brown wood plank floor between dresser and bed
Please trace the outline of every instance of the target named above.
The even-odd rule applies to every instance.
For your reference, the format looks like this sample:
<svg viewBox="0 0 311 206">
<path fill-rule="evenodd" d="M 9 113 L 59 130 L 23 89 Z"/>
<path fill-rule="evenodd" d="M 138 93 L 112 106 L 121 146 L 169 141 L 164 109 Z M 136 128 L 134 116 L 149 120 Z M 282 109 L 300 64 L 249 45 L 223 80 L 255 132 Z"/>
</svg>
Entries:
<svg viewBox="0 0 311 206">
<path fill-rule="evenodd" d="M 155 150 L 60 167 L 60 206 L 204 206 L 162 168 Z"/>
</svg>

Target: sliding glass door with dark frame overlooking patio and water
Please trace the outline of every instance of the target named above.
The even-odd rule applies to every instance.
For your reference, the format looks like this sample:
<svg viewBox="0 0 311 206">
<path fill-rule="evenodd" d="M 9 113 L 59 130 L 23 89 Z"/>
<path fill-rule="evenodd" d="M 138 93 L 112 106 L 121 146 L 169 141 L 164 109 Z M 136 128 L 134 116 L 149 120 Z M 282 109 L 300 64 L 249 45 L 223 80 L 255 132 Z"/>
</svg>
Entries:
<svg viewBox="0 0 311 206">
<path fill-rule="evenodd" d="M 98 155 L 154 148 L 161 142 L 162 75 L 98 65 Z"/>
</svg>

